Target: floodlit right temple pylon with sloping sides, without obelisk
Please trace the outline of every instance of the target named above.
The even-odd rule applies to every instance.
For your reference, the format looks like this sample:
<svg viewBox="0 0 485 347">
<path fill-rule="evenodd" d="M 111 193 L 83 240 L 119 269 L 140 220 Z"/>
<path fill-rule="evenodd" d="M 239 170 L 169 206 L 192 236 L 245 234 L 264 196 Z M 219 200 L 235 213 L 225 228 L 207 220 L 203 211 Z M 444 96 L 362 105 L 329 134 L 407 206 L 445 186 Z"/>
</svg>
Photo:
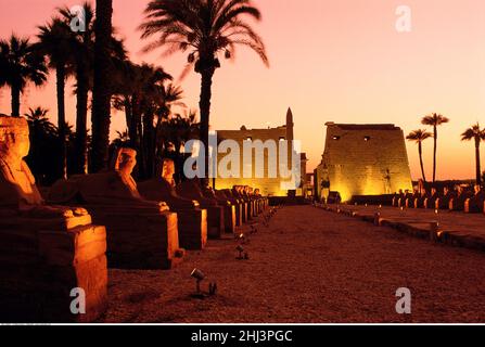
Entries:
<svg viewBox="0 0 485 347">
<path fill-rule="evenodd" d="M 316 169 L 315 193 L 392 194 L 411 190 L 411 172 L 404 132 L 391 124 L 327 123 L 326 147 Z"/>
</svg>

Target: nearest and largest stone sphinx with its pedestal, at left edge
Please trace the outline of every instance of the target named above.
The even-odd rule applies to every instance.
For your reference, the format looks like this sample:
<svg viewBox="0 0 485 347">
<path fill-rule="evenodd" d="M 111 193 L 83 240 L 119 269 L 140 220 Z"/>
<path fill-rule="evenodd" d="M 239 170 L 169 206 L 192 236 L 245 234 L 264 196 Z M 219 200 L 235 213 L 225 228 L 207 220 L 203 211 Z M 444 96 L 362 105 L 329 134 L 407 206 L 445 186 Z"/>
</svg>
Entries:
<svg viewBox="0 0 485 347">
<path fill-rule="evenodd" d="M 47 205 L 28 152 L 27 121 L 0 115 L 0 321 L 93 321 L 107 303 L 105 229 L 84 208 Z M 69 310 L 76 287 L 86 314 Z"/>
</svg>

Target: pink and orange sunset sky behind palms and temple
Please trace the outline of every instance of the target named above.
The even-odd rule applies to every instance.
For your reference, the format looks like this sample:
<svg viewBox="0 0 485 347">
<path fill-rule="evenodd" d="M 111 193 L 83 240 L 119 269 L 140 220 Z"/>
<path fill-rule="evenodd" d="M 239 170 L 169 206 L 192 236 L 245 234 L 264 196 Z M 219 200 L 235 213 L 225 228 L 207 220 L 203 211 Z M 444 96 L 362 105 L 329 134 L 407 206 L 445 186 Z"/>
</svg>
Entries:
<svg viewBox="0 0 485 347">
<path fill-rule="evenodd" d="M 140 53 L 138 25 L 148 0 L 114 0 L 114 25 L 126 38 L 130 57 L 163 66 L 178 77 L 186 57 Z M 60 5 L 72 0 L 2 0 L 0 37 L 14 31 L 35 36 Z M 420 118 L 442 113 L 451 123 L 439 128 L 438 179 L 473 178 L 472 143 L 461 143 L 470 125 L 485 126 L 485 2 L 483 0 L 257 0 L 270 68 L 242 48 L 224 62 L 213 89 L 212 127 L 239 129 L 279 126 L 292 107 L 295 138 L 309 157 L 320 160 L 324 124 L 394 123 L 405 132 L 422 127 Z M 397 33 L 399 5 L 412 11 L 412 30 Z M 200 77 L 180 81 L 186 104 L 197 107 Z M 72 85 L 72 81 L 71 81 Z M 68 121 L 75 99 L 67 91 Z M 55 83 L 29 87 L 22 112 L 41 105 L 56 123 Z M 10 114 L 10 90 L 0 90 L 0 112 Z M 112 133 L 126 128 L 124 114 L 113 114 Z M 424 144 L 431 177 L 432 140 Z M 484 146 L 485 147 L 485 146 Z M 420 177 L 417 146 L 408 143 L 413 179 Z M 482 152 L 483 153 L 483 152 Z M 484 153 L 483 153 L 484 154 Z"/>
</svg>

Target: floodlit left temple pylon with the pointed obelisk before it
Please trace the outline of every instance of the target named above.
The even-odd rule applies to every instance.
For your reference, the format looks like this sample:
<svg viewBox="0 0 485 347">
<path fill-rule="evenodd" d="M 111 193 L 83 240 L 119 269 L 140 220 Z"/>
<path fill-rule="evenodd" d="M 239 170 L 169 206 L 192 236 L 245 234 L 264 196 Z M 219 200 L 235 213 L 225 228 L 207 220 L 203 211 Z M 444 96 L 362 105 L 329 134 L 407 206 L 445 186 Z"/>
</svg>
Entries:
<svg viewBox="0 0 485 347">
<path fill-rule="evenodd" d="M 263 177 L 257 177 L 255 172 L 255 151 L 253 151 L 253 160 L 251 164 L 246 163 L 246 167 L 244 167 L 243 154 L 240 155 L 240 169 L 239 175 L 234 175 L 238 177 L 222 178 L 220 177 L 220 172 L 217 175 L 216 179 L 216 189 L 228 189 L 233 185 L 251 185 L 253 188 L 259 188 L 261 194 L 268 196 L 286 196 L 288 189 L 284 187 L 284 182 L 290 182 L 289 179 L 282 177 L 280 172 L 280 153 L 278 149 L 278 144 L 281 140 L 289 141 L 288 149 L 288 157 L 289 162 L 290 155 L 293 152 L 293 114 L 289 108 L 286 113 L 286 124 L 277 128 L 267 128 L 267 129 L 247 129 L 245 126 L 242 126 L 240 130 L 218 130 L 217 131 L 218 142 L 221 143 L 225 140 L 233 140 L 235 141 L 241 149 L 243 149 L 243 142 L 251 142 L 256 144 L 261 141 L 264 144 L 268 140 L 272 140 L 271 142 L 277 145 L 277 151 L 269 151 L 266 149 L 264 151 L 264 175 Z M 258 141 L 259 140 L 259 141 Z M 259 142 L 259 144 L 261 144 Z M 220 162 L 224 159 L 225 154 L 218 154 L 218 166 Z M 306 170 L 306 156 L 302 156 L 301 165 L 304 166 Z M 276 164 L 276 167 L 275 165 Z M 277 170 L 277 175 L 271 177 L 270 170 L 268 166 L 271 165 L 271 168 Z M 289 163 L 288 168 L 292 168 L 291 163 Z M 244 177 L 244 169 L 251 170 L 251 177 Z M 302 168 L 303 170 L 303 168 Z M 304 172 L 304 171 L 302 171 Z M 247 176 L 247 175 L 246 175 Z M 304 175 L 299 179 L 305 181 L 306 176 Z M 303 182 L 304 183 L 304 182 Z M 293 184 L 294 185 L 294 184 Z M 299 188 L 296 191 L 296 195 L 302 195 L 303 190 Z"/>
</svg>

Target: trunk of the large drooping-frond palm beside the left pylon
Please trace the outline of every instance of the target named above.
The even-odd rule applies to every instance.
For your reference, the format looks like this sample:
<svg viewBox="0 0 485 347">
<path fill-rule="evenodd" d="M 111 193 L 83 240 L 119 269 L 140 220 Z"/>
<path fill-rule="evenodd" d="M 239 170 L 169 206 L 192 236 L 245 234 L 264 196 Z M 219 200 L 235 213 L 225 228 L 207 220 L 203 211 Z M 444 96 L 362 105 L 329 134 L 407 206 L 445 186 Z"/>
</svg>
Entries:
<svg viewBox="0 0 485 347">
<path fill-rule="evenodd" d="M 214 77 L 214 68 L 204 69 L 201 72 L 201 99 L 199 101 L 199 107 L 201 110 L 201 141 L 204 144 L 204 178 L 201 180 L 203 187 L 208 185 L 208 127 L 210 117 L 210 98 L 212 98 L 212 86 Z"/>
</svg>

